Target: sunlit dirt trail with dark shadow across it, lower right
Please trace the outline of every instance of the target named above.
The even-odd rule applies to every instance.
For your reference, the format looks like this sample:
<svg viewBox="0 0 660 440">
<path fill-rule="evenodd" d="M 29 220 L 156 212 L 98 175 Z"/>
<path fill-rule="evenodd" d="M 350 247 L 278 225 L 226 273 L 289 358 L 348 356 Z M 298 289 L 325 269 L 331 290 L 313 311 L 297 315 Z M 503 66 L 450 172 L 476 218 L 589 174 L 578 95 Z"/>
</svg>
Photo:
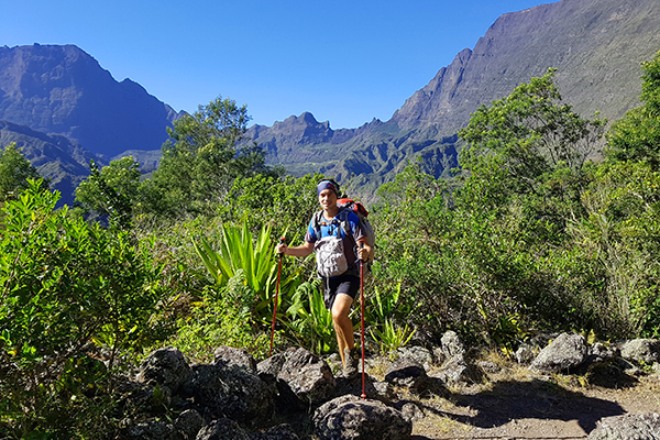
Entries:
<svg viewBox="0 0 660 440">
<path fill-rule="evenodd" d="M 538 375 L 505 365 L 481 384 L 450 387 L 443 396 L 410 395 L 408 400 L 420 409 L 413 424 L 416 440 L 581 439 L 606 417 L 660 413 L 660 375 L 612 369 Z"/>
</svg>

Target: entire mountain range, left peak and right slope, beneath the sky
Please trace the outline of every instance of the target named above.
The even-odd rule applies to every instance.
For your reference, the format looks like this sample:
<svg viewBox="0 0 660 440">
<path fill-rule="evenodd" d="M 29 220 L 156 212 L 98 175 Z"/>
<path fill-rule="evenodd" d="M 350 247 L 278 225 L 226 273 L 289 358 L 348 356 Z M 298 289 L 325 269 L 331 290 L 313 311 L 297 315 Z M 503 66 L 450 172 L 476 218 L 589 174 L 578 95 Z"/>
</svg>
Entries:
<svg viewBox="0 0 660 440">
<path fill-rule="evenodd" d="M 351 179 L 367 193 L 418 158 L 425 172 L 447 177 L 471 113 L 549 67 L 564 102 L 585 118 L 600 111 L 615 121 L 638 106 L 640 63 L 660 50 L 658 29 L 658 0 L 561 0 L 506 13 L 387 121 L 333 130 L 307 111 L 252 125 L 248 138 L 270 165 Z M 178 114 L 139 84 L 116 81 L 77 46 L 0 47 L 0 120 L 66 135 L 102 160 L 129 151 L 153 170 L 165 127 Z"/>
</svg>

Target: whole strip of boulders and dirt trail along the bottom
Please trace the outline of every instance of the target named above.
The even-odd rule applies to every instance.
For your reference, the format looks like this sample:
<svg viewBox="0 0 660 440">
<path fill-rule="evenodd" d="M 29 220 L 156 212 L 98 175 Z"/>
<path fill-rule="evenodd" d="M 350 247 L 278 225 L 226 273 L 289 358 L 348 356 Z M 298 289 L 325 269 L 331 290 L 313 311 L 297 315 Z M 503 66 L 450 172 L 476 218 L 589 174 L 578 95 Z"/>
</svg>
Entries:
<svg viewBox="0 0 660 440">
<path fill-rule="evenodd" d="M 118 439 L 660 438 L 658 340 L 605 346 L 561 333 L 505 356 L 448 331 L 432 350 L 372 353 L 365 371 L 363 385 L 337 354 L 304 348 L 256 363 L 221 346 L 193 365 L 165 348 L 127 383 Z"/>
</svg>

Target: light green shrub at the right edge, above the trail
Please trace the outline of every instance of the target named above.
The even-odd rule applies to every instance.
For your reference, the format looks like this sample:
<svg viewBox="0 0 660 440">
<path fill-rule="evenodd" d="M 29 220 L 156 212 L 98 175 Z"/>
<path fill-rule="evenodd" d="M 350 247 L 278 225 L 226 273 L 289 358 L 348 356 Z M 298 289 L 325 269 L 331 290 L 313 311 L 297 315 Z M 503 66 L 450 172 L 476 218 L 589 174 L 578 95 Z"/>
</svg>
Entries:
<svg viewBox="0 0 660 440">
<path fill-rule="evenodd" d="M 660 173 L 648 163 L 602 166 L 583 194 L 587 209 L 571 229 L 606 282 L 610 316 L 627 334 L 657 336 L 660 322 Z"/>
</svg>

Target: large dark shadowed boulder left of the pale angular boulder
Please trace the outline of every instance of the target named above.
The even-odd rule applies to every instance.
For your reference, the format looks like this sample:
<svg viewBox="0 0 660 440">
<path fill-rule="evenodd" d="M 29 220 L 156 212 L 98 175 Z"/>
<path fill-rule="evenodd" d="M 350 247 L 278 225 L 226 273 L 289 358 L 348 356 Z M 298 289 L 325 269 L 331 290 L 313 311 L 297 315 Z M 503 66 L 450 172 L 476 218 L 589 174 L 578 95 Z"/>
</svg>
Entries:
<svg viewBox="0 0 660 440">
<path fill-rule="evenodd" d="M 242 366 L 195 365 L 193 397 L 209 418 L 227 417 L 245 425 L 273 416 L 273 388 Z"/>
</svg>

